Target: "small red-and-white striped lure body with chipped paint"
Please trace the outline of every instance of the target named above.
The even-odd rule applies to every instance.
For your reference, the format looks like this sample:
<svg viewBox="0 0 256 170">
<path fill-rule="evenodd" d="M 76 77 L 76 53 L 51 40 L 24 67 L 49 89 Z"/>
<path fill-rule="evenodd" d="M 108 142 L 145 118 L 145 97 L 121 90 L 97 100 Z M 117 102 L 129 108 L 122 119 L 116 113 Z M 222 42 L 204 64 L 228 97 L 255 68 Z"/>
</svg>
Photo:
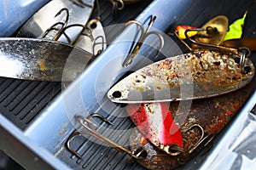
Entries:
<svg viewBox="0 0 256 170">
<path fill-rule="evenodd" d="M 183 147 L 182 133 L 172 119 L 168 103 L 128 105 L 126 109 L 137 128 L 153 144 L 174 143 Z"/>
</svg>

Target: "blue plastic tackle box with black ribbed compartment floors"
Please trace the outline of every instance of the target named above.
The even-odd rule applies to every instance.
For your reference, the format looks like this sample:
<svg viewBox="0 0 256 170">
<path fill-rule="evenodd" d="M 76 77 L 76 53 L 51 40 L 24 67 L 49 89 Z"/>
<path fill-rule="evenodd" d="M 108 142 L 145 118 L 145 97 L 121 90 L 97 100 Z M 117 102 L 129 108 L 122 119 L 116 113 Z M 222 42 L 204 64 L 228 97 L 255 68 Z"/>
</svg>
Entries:
<svg viewBox="0 0 256 170">
<path fill-rule="evenodd" d="M 2 1 L 1 37 L 15 36 L 20 26 L 48 2 Z M 248 10 L 242 36 L 256 37 L 256 3 L 253 0 L 143 0 L 125 6 L 115 19 L 111 14 L 112 4 L 109 1 L 100 1 L 100 9 L 104 27 L 128 20 L 145 23 L 148 17 L 156 16 L 154 29 L 165 32 L 170 37 L 170 32 L 178 25 L 199 27 L 219 14 L 226 15 L 231 23 L 241 18 Z M 91 18 L 96 16 L 95 7 Z M 147 23 L 144 26 L 147 26 Z M 137 162 L 127 164 L 125 161 L 129 156 L 125 153 L 119 153 L 89 136 L 72 140 L 73 149 L 77 150 L 83 159 L 74 156 L 66 146 L 68 137 L 78 125 L 73 116 L 99 113 L 107 116 L 113 126 L 96 120 L 99 124 L 97 130 L 129 148 L 130 134 L 126 129 L 131 129 L 134 125 L 122 105 L 113 104 L 106 94 L 127 72 L 136 71 L 154 61 L 154 50 L 144 47 L 140 52 L 141 57 L 136 58 L 131 67 L 122 67 L 125 54 L 131 48 L 131 43 L 125 40 L 134 35 L 134 32 L 131 27 L 121 31 L 115 30 L 114 27 L 107 28 L 108 48 L 67 87 L 61 82 L 0 77 L 0 149 L 26 169 L 144 169 Z M 166 41 L 163 50 L 168 56 L 174 56 L 182 53 L 182 48 L 173 40 Z M 253 62 L 256 61 L 255 57 L 253 52 Z M 256 92 L 253 92 L 237 116 L 213 140 L 212 147 L 202 151 L 178 169 L 255 167 L 255 103 Z"/>
</svg>

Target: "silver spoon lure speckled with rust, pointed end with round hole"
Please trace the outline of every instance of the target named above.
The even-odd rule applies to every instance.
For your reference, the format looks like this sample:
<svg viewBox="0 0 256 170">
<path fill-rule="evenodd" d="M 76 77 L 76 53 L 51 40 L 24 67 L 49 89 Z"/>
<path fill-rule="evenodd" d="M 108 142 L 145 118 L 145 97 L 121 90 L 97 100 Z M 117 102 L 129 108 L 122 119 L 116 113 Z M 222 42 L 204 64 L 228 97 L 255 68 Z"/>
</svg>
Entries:
<svg viewBox="0 0 256 170">
<path fill-rule="evenodd" d="M 242 73 L 236 54 L 199 51 L 160 60 L 132 73 L 108 91 L 117 103 L 201 99 L 226 94 L 251 81 L 254 66 Z"/>
</svg>

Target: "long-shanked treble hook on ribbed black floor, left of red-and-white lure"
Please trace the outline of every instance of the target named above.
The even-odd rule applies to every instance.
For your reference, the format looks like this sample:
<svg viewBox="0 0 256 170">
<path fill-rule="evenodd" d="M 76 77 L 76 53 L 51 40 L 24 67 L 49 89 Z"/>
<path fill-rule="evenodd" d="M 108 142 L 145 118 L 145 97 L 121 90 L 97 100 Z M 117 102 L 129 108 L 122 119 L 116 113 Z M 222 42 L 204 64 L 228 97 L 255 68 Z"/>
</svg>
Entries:
<svg viewBox="0 0 256 170">
<path fill-rule="evenodd" d="M 75 116 L 75 119 L 79 122 L 80 125 L 82 125 L 82 127 L 84 127 L 86 130 L 88 130 L 88 132 L 82 131 L 82 132 L 75 132 L 73 133 L 68 139 L 67 139 L 67 149 L 70 150 L 75 156 L 78 156 L 79 158 L 82 159 L 82 156 L 79 155 L 79 153 L 75 150 L 73 150 L 70 147 L 70 142 L 71 140 L 78 135 L 81 134 L 90 134 L 91 136 L 95 137 L 96 139 L 101 140 L 103 143 L 108 144 L 109 146 L 113 147 L 113 149 L 118 150 L 119 152 L 123 153 L 127 153 L 128 155 L 136 158 L 136 159 L 140 159 L 140 155 L 137 154 L 135 155 L 134 152 L 132 152 L 131 150 L 127 150 L 126 148 L 124 148 L 123 146 L 113 142 L 113 140 L 108 139 L 106 137 L 104 137 L 102 134 L 97 133 L 96 130 L 92 127 L 90 127 L 90 125 L 96 127 L 96 124 L 90 121 L 91 117 L 99 117 L 102 119 L 103 122 L 108 122 L 110 124 L 112 124 L 112 122 L 109 122 L 108 119 L 102 115 L 99 115 L 97 113 L 94 113 L 90 116 L 88 116 L 87 118 L 84 118 L 84 116 Z"/>
</svg>

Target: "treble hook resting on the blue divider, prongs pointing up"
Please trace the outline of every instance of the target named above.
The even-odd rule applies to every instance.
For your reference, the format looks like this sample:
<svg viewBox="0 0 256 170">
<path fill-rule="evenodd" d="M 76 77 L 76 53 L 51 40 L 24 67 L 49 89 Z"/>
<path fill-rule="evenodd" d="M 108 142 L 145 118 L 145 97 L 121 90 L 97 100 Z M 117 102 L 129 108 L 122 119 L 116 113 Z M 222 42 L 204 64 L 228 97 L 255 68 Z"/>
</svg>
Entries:
<svg viewBox="0 0 256 170">
<path fill-rule="evenodd" d="M 155 35 L 159 38 L 160 47 L 158 48 L 158 54 L 160 54 L 160 50 L 164 47 L 164 38 L 157 31 L 149 31 L 151 26 L 153 26 L 155 20 L 156 20 L 156 16 L 150 16 L 150 21 L 148 23 L 148 27 L 147 27 L 146 31 L 144 31 L 143 24 L 138 22 L 137 20 L 130 20 L 130 21 L 125 23 L 125 27 L 129 26 L 131 24 L 135 24 L 135 25 L 139 26 L 139 28 L 141 29 L 141 36 L 139 37 L 135 46 L 132 43 L 131 49 L 130 49 L 131 54 L 129 53 L 128 56 L 125 58 L 125 61 L 123 62 L 123 67 L 128 67 L 129 65 L 131 65 L 133 59 L 136 58 L 140 48 L 143 46 L 143 42 L 150 35 Z M 156 54 L 156 56 L 158 56 L 158 54 Z"/>
</svg>

